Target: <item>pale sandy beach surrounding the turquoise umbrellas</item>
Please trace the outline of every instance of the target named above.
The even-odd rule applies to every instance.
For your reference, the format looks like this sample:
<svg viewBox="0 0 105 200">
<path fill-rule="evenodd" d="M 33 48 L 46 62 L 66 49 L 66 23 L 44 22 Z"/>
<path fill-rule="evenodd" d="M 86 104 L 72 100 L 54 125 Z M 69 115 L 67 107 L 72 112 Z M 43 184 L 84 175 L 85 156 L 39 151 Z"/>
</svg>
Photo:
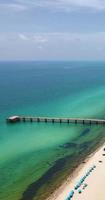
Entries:
<svg viewBox="0 0 105 200">
<path fill-rule="evenodd" d="M 79 166 L 72 178 L 68 180 L 48 199 L 48 200 L 66 200 L 71 190 L 74 190 L 72 200 L 105 200 L 105 145 L 98 149 L 85 164 Z M 80 181 L 86 172 L 93 166 L 96 168 L 86 177 L 80 190 L 75 190 L 74 186 Z M 84 184 L 87 187 L 83 189 Z"/>
</svg>

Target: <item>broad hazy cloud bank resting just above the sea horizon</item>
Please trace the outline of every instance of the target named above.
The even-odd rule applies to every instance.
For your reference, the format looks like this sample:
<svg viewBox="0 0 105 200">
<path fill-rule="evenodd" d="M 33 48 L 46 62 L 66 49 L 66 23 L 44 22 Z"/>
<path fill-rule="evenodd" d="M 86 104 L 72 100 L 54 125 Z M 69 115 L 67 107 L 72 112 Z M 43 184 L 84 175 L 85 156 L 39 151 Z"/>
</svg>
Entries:
<svg viewBox="0 0 105 200">
<path fill-rule="evenodd" d="M 105 32 L 0 33 L 0 59 L 105 59 Z"/>
</svg>

